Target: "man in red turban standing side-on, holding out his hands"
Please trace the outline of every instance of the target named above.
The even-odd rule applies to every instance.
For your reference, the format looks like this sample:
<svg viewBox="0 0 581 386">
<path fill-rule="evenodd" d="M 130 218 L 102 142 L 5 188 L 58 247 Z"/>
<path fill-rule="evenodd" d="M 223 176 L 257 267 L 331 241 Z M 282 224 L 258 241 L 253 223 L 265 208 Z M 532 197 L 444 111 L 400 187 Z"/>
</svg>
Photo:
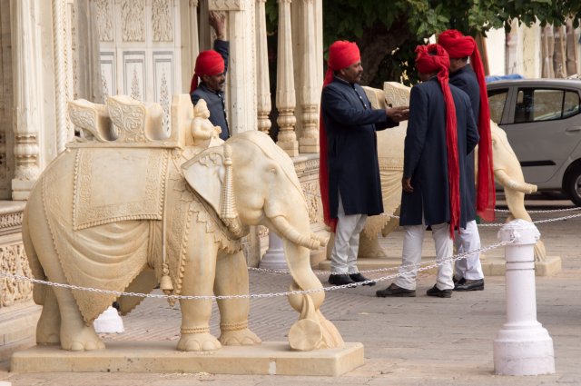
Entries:
<svg viewBox="0 0 581 386">
<path fill-rule="evenodd" d="M 320 104 L 320 193 L 325 223 L 335 232 L 329 282 L 343 285 L 367 281 L 357 268 L 359 233 L 368 215 L 383 212 L 375 131 L 396 126 L 408 111 L 369 104 L 359 85 L 356 44 L 330 45 L 328 65 Z"/>
</svg>

